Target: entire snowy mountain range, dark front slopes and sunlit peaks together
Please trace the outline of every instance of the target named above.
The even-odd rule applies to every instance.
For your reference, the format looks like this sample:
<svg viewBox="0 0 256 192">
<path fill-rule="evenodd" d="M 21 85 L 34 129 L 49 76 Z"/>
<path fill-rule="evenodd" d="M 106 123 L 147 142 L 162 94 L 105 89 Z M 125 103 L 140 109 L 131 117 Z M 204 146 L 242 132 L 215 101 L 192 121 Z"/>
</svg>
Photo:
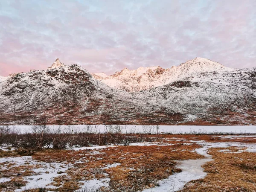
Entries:
<svg viewBox="0 0 256 192">
<path fill-rule="evenodd" d="M 126 91 L 127 90 L 127 91 Z M 91 75 L 59 59 L 0 81 L 0 124 L 255 125 L 256 67 L 204 58 Z"/>
</svg>

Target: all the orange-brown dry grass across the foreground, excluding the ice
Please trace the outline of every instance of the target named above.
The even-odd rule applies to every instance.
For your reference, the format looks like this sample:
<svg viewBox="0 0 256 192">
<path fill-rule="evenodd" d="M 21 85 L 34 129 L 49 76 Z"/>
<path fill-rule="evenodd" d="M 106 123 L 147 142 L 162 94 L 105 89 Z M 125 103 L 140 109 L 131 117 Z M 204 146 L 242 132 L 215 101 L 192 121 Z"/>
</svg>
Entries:
<svg viewBox="0 0 256 192">
<path fill-rule="evenodd" d="M 137 137 L 136 135 L 130 135 Z M 169 177 L 175 172 L 180 172 L 176 168 L 176 160 L 188 160 L 204 158 L 203 156 L 192 152 L 200 145 L 192 141 L 205 142 L 241 142 L 255 143 L 255 137 L 236 137 L 233 139 L 225 137 L 214 137 L 206 134 L 160 134 L 149 135 L 149 146 L 113 146 L 101 149 L 87 150 L 54 150 L 44 149 L 42 151 L 33 151 L 31 154 L 34 160 L 47 163 L 70 163 L 71 166 L 65 175 L 56 175 L 50 185 L 57 189 L 47 189 L 56 192 L 72 192 L 78 190 L 84 180 L 104 179 L 109 177 L 109 188 L 103 189 L 104 192 L 137 192 L 143 189 L 158 185 L 158 181 Z M 191 181 L 186 184 L 181 191 L 197 192 L 243 192 L 256 191 L 256 153 L 241 152 L 243 148 L 229 147 L 225 153 L 219 150 L 227 148 L 212 148 L 209 153 L 214 161 L 204 165 L 208 175 L 201 180 Z M 0 155 L 1 155 L 0 151 Z M 23 154 L 22 150 L 13 151 L 14 156 Z M 24 152 L 27 154 L 29 152 Z M 3 156 L 9 156 L 5 152 Z M 109 165 L 116 164 L 116 167 L 108 168 Z M 35 167 L 30 165 L 18 166 L 14 169 L 14 164 L 1 163 L 1 177 L 15 177 L 18 172 L 23 172 L 22 176 L 33 175 L 31 169 Z M 2 168 L 7 168 L 6 170 Z M 7 174 L 7 175 L 6 175 Z M 9 175 L 8 175 L 9 174 Z M 15 180 L 19 178 L 15 177 Z M 15 181 L 26 184 L 22 180 Z M 2 183 L 9 189 L 17 189 L 14 181 Z M 9 188 L 8 188 L 9 187 Z M 15 188 L 16 187 L 16 188 Z M 47 187 L 47 186 L 46 186 Z M 50 187 L 50 186 L 49 186 Z M 11 188 L 10 188 L 11 189 Z M 4 189 L 5 190 L 5 189 Z M 26 192 L 44 192 L 42 189 L 30 189 Z M 2 187 L 3 191 L 3 187 Z M 5 191 L 3 191 L 5 192 Z"/>
</svg>

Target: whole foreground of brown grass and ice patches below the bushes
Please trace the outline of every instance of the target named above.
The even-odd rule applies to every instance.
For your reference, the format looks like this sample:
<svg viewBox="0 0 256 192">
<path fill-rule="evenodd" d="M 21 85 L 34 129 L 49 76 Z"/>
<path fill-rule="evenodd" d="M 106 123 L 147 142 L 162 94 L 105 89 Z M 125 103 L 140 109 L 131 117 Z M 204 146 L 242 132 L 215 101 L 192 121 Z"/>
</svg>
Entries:
<svg viewBox="0 0 256 192">
<path fill-rule="evenodd" d="M 63 150 L 2 146 L 0 191 L 256 191 L 254 135 L 145 138 L 140 143 Z"/>
</svg>

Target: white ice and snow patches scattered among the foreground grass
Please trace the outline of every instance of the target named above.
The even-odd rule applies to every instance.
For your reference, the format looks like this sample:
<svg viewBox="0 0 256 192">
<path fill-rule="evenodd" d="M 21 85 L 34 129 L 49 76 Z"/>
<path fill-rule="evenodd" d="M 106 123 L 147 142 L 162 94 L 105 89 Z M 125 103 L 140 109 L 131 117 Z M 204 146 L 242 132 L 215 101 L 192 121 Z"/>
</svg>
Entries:
<svg viewBox="0 0 256 192">
<path fill-rule="evenodd" d="M 225 137 L 225 136 L 222 136 Z M 232 136 L 227 136 L 232 137 Z M 236 136 L 236 137 L 243 137 L 243 136 Z M 250 136 L 251 137 L 251 136 Z M 208 154 L 208 150 L 210 148 L 226 148 L 219 150 L 220 152 L 232 152 L 228 148 L 229 147 L 238 147 L 239 152 L 247 151 L 247 152 L 256 152 L 256 143 L 240 143 L 240 142 L 206 142 L 203 140 L 190 140 L 192 143 L 197 143 L 198 145 L 201 145 L 201 148 L 195 149 L 195 152 L 198 154 L 204 155 L 207 158 L 204 159 L 198 159 L 198 160 L 183 160 L 179 161 L 180 165 L 177 166 L 177 168 L 182 169 L 182 172 L 175 173 L 174 175 L 169 176 L 166 179 L 160 180 L 159 184 L 160 186 L 151 188 L 151 189 L 145 189 L 144 192 L 172 192 L 181 189 L 187 182 L 195 179 L 204 178 L 207 173 L 204 172 L 204 170 L 201 168 L 204 163 L 207 163 L 211 161 L 211 155 Z M 187 143 L 191 144 L 191 143 Z M 140 145 L 140 146 L 147 146 L 147 145 L 173 145 L 169 143 L 161 143 L 161 142 L 154 142 L 154 143 L 131 143 L 131 145 Z M 97 151 L 97 149 L 101 148 L 108 148 L 108 147 L 114 147 L 113 145 L 108 146 L 97 146 L 93 145 L 90 147 L 80 147 L 80 148 L 73 148 L 73 150 L 85 150 L 85 149 L 91 149 L 90 154 L 99 154 L 100 152 Z M 93 151 L 95 150 L 95 151 Z M 26 180 L 28 183 L 26 186 L 23 186 L 21 189 L 15 190 L 15 192 L 20 192 L 25 189 L 32 189 L 32 188 L 39 188 L 39 187 L 48 187 L 54 188 L 54 186 L 49 186 L 50 183 L 52 183 L 53 178 L 57 177 L 59 175 L 65 175 L 65 171 L 72 167 L 72 164 L 65 164 L 65 163 L 46 163 L 41 161 L 33 160 L 31 156 L 23 156 L 23 157 L 3 157 L 0 158 L 0 163 L 9 162 L 13 163 L 11 167 L 17 167 L 24 165 L 25 163 L 28 165 L 39 165 L 40 167 L 37 169 L 32 169 L 35 173 L 38 173 L 33 176 L 24 176 L 24 180 Z M 79 161 L 76 161 L 75 163 L 84 163 L 83 159 L 81 158 Z M 74 164 L 75 164 L 74 163 Z M 113 163 L 110 165 L 107 165 L 105 169 L 113 168 L 116 166 L 119 166 L 120 163 Z M 6 169 L 6 168 L 2 168 Z M 104 168 L 103 168 L 104 169 Z M 61 174 L 57 174 L 57 172 L 62 172 Z M 22 176 L 22 175 L 21 175 Z M 6 182 L 11 180 L 11 178 L 0 178 L 0 183 Z M 84 185 L 81 186 L 82 189 L 89 188 L 89 189 L 95 189 L 99 188 L 101 186 L 108 186 L 108 182 L 110 181 L 110 178 L 100 179 L 100 180 L 84 180 L 79 181 L 83 183 Z"/>
</svg>

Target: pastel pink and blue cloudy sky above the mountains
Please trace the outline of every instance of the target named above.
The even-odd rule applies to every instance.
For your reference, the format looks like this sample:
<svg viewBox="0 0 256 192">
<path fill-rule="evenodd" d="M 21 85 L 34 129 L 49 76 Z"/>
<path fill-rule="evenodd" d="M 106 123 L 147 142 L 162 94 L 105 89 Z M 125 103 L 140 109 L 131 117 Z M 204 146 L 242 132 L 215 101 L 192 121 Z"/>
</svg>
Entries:
<svg viewBox="0 0 256 192">
<path fill-rule="evenodd" d="M 110 75 L 195 57 L 256 67 L 256 0 L 0 1 L 0 76 L 56 58 Z"/>
</svg>

